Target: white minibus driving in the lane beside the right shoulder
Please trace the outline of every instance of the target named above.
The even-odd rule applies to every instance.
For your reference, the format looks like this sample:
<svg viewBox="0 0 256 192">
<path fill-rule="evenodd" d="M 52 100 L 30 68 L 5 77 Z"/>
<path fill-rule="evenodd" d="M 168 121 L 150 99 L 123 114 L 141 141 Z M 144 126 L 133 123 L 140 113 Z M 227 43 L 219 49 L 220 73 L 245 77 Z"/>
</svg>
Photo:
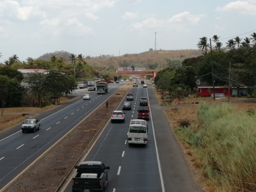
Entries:
<svg viewBox="0 0 256 192">
<path fill-rule="evenodd" d="M 128 131 L 128 144 L 147 144 L 146 120 L 131 120 Z"/>
</svg>

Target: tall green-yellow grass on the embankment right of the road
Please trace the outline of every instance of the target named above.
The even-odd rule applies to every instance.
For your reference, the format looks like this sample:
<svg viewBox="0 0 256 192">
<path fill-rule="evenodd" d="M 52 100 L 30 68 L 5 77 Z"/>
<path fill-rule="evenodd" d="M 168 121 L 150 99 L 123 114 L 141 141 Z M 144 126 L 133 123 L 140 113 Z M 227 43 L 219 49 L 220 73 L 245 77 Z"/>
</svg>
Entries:
<svg viewBox="0 0 256 192">
<path fill-rule="evenodd" d="M 174 132 L 190 148 L 186 153 L 204 176 L 207 191 L 255 192 L 255 109 L 201 104 L 195 117 Z"/>
</svg>

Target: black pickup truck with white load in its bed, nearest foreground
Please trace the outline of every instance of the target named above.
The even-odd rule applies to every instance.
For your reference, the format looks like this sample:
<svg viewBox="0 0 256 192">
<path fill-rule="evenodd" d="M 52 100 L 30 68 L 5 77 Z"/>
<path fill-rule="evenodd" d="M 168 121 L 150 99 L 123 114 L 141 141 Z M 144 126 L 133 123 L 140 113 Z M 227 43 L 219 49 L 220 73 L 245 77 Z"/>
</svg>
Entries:
<svg viewBox="0 0 256 192">
<path fill-rule="evenodd" d="M 108 169 L 100 161 L 84 161 L 74 167 L 72 192 L 103 192 L 108 183 Z"/>
</svg>

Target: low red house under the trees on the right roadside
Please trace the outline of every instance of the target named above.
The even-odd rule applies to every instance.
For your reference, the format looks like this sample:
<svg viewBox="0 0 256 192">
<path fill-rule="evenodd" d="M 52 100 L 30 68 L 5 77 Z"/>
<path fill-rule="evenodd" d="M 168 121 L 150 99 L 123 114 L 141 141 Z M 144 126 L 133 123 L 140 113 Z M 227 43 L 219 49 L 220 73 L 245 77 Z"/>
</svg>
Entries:
<svg viewBox="0 0 256 192">
<path fill-rule="evenodd" d="M 201 96 L 213 96 L 213 86 L 197 86 Z M 232 96 L 232 89 L 226 86 L 215 86 L 215 96 Z"/>
</svg>

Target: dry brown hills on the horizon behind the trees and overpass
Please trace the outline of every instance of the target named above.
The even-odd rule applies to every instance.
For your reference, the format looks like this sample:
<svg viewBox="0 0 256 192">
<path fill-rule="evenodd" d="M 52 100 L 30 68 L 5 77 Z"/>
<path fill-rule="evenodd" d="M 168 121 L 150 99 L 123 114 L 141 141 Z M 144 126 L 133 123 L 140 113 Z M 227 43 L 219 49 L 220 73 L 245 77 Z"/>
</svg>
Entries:
<svg viewBox="0 0 256 192">
<path fill-rule="evenodd" d="M 67 61 L 71 53 L 67 51 L 55 51 L 46 53 L 37 59 L 50 60 L 51 55 L 63 57 Z M 156 50 L 146 51 L 138 54 L 125 54 L 122 56 L 100 55 L 97 57 L 86 56 L 85 61 L 92 67 L 105 67 L 105 69 L 115 70 L 118 67 L 128 67 L 133 64 L 135 67 L 148 67 L 149 64 L 158 64 L 158 68 L 169 66 L 179 66 L 180 62 L 187 58 L 202 55 L 200 50 Z"/>
</svg>

